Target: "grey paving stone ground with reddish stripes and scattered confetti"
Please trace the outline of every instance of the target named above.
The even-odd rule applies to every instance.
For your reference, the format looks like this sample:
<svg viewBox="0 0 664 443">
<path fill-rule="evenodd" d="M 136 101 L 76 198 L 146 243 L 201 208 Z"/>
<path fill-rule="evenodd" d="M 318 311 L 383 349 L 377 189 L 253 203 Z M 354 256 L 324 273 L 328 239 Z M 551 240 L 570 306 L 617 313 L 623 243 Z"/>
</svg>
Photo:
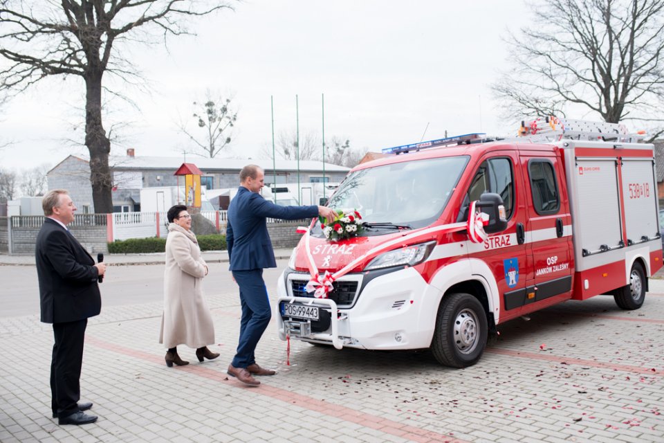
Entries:
<svg viewBox="0 0 664 443">
<path fill-rule="evenodd" d="M 664 284 L 651 291 L 636 311 L 600 296 L 501 325 L 463 370 L 298 341 L 288 365 L 273 322 L 257 360 L 278 372 L 256 388 L 225 373 L 237 294 L 209 297 L 219 359 L 181 346 L 181 368 L 157 343 L 161 303 L 104 308 L 81 377 L 100 418 L 84 426 L 50 417 L 50 325 L 0 318 L 0 442 L 664 442 Z"/>
</svg>

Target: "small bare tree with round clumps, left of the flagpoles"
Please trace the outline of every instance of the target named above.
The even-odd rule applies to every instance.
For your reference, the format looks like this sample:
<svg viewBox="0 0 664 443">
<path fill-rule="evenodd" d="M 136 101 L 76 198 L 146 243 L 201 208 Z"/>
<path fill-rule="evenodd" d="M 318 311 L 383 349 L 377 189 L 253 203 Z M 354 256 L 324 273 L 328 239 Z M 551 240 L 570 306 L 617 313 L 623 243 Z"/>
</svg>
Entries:
<svg viewBox="0 0 664 443">
<path fill-rule="evenodd" d="M 203 156 L 214 159 L 231 141 L 230 132 L 237 120 L 237 112 L 231 109 L 230 98 L 214 99 L 209 90 L 205 93 L 205 103 L 194 102 L 194 107 L 196 126 L 204 129 L 205 134 L 194 134 L 184 123 L 180 130 L 196 145 L 194 154 L 203 152 Z"/>
</svg>

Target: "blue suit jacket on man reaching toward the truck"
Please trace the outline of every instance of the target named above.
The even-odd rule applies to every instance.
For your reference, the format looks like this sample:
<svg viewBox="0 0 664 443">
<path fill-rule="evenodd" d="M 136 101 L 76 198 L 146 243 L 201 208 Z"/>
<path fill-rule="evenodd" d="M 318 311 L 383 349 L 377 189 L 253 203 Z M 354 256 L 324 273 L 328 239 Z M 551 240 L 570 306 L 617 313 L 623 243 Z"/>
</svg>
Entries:
<svg viewBox="0 0 664 443">
<path fill-rule="evenodd" d="M 228 206 L 226 245 L 231 271 L 276 268 L 266 218 L 297 220 L 318 215 L 318 206 L 278 206 L 240 186 Z"/>
</svg>

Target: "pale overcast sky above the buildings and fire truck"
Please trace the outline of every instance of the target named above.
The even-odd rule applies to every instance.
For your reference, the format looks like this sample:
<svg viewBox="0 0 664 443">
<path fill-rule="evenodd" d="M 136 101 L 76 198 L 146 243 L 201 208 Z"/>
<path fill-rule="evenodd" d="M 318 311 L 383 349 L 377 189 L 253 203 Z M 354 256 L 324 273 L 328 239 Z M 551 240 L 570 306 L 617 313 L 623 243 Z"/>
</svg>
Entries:
<svg viewBox="0 0 664 443">
<path fill-rule="evenodd" d="M 261 156 L 275 132 L 322 131 L 352 147 L 380 151 L 468 132 L 513 134 L 499 120 L 490 84 L 507 69 L 507 30 L 530 18 L 522 0 L 247 0 L 194 22 L 196 37 L 162 46 L 134 46 L 129 56 L 150 93 L 127 89 L 138 109 L 112 100 L 104 126 L 118 129 L 111 154 L 181 156 L 187 141 L 178 122 L 194 128 L 192 102 L 205 90 L 230 96 L 238 109 L 225 156 Z M 83 84 L 48 78 L 0 109 L 2 168 L 62 161 L 86 148 Z M 75 129 L 75 125 L 79 125 Z M 428 125 L 428 128 L 427 128 Z M 270 148 L 271 149 L 271 148 Z M 187 156 L 195 163 L 195 157 Z"/>
</svg>

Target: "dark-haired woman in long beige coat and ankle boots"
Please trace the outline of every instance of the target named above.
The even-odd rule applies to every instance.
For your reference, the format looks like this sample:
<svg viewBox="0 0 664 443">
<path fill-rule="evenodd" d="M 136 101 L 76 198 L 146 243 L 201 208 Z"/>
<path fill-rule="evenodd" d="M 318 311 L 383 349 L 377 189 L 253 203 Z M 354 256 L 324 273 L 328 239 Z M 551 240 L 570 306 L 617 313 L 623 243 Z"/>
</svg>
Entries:
<svg viewBox="0 0 664 443">
<path fill-rule="evenodd" d="M 164 272 L 164 314 L 161 318 L 159 343 L 168 348 L 165 360 L 170 368 L 188 365 L 178 355 L 177 345 L 196 348 L 196 357 L 203 361 L 219 354 L 207 345 L 214 343 L 214 324 L 208 303 L 203 298 L 201 283 L 208 275 L 208 265 L 192 233 L 192 216 L 183 205 L 173 206 L 167 213 L 166 271 Z"/>
</svg>

